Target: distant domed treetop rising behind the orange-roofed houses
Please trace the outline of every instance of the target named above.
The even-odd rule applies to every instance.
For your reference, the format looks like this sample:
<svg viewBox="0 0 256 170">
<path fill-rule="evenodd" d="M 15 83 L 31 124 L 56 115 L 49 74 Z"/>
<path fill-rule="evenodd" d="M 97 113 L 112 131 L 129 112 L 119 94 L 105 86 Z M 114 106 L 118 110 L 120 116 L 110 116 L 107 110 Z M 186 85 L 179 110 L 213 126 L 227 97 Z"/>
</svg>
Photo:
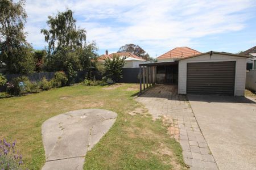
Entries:
<svg viewBox="0 0 256 170">
<path fill-rule="evenodd" d="M 121 46 L 121 48 L 119 48 L 118 53 L 120 52 L 129 52 L 132 54 L 135 54 L 138 57 L 142 57 L 143 59 L 146 60 L 150 60 L 150 56 L 148 55 L 148 53 L 146 53 L 141 46 L 139 45 L 135 45 L 135 44 L 126 44 Z"/>
</svg>

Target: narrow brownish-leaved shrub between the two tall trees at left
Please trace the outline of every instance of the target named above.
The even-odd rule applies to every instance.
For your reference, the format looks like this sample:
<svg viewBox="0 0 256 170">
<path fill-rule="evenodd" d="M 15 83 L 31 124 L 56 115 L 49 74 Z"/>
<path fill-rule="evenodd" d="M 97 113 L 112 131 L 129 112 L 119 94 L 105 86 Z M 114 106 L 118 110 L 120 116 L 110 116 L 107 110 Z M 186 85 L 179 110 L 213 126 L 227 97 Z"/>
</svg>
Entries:
<svg viewBox="0 0 256 170">
<path fill-rule="evenodd" d="M 44 60 L 46 59 L 47 52 L 46 50 L 35 50 L 34 51 L 34 60 L 35 60 L 35 71 L 43 71 Z"/>
</svg>

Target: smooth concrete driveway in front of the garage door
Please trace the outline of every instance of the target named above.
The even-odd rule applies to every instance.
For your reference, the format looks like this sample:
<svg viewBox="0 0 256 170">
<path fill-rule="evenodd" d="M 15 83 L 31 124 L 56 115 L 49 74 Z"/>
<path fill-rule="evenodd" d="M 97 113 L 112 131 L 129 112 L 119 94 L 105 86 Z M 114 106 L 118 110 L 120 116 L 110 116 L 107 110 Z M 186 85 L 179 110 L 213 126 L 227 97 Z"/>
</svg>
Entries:
<svg viewBox="0 0 256 170">
<path fill-rule="evenodd" d="M 256 104 L 245 97 L 188 95 L 220 169 L 256 169 Z"/>
</svg>

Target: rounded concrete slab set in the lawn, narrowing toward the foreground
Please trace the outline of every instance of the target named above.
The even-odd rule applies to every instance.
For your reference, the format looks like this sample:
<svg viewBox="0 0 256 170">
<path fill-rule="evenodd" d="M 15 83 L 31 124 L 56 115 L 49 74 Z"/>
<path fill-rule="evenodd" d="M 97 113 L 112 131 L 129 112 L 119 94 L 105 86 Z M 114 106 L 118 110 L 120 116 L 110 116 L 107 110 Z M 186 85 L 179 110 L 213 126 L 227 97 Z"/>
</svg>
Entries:
<svg viewBox="0 0 256 170">
<path fill-rule="evenodd" d="M 49 118 L 42 125 L 46 169 L 82 169 L 84 156 L 111 128 L 117 113 L 81 109 Z"/>
</svg>

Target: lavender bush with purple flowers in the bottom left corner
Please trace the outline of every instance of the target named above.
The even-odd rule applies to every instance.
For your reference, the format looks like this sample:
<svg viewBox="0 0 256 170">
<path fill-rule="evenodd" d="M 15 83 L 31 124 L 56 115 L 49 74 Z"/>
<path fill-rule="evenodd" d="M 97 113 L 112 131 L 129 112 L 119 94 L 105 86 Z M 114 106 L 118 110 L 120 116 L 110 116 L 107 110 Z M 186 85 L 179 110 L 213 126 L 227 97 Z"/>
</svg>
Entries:
<svg viewBox="0 0 256 170">
<path fill-rule="evenodd" d="M 20 169 L 23 164 L 22 155 L 15 151 L 16 142 L 7 143 L 5 139 L 0 140 L 0 169 Z"/>
</svg>

